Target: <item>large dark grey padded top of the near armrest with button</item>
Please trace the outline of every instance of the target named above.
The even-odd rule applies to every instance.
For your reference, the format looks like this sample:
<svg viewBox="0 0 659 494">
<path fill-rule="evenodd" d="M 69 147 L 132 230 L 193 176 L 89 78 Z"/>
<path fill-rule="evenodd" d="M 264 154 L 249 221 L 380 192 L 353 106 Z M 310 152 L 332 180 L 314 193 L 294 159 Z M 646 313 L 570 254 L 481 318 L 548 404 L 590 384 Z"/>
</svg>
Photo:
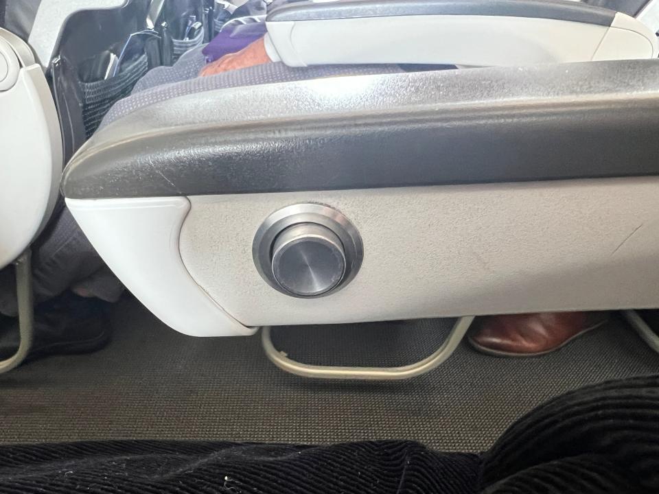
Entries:
<svg viewBox="0 0 659 494">
<path fill-rule="evenodd" d="M 650 175 L 658 129 L 659 60 L 264 84 L 118 119 L 74 156 L 62 189 L 121 198 Z"/>
</svg>

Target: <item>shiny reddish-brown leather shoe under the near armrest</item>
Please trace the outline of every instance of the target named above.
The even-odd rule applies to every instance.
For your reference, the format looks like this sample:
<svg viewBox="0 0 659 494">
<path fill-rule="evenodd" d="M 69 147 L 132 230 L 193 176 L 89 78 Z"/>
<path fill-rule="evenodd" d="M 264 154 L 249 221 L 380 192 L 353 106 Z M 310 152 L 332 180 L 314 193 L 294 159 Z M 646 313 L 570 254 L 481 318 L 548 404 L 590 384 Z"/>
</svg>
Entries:
<svg viewBox="0 0 659 494">
<path fill-rule="evenodd" d="M 542 312 L 487 316 L 467 337 L 474 348 L 500 357 L 535 357 L 557 350 L 608 320 L 606 312 Z"/>
</svg>

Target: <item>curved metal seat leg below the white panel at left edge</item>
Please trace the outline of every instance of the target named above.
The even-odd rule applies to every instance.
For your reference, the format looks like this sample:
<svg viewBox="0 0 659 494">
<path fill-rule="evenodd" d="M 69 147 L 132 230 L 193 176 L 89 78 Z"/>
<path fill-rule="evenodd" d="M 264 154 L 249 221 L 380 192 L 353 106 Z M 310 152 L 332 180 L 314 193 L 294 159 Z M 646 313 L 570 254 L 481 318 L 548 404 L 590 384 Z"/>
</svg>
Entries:
<svg viewBox="0 0 659 494">
<path fill-rule="evenodd" d="M 32 294 L 32 252 L 25 250 L 14 262 L 16 268 L 16 300 L 19 308 L 21 342 L 12 357 L 0 361 L 0 374 L 21 365 L 32 348 L 34 340 L 34 296 Z"/>
</svg>

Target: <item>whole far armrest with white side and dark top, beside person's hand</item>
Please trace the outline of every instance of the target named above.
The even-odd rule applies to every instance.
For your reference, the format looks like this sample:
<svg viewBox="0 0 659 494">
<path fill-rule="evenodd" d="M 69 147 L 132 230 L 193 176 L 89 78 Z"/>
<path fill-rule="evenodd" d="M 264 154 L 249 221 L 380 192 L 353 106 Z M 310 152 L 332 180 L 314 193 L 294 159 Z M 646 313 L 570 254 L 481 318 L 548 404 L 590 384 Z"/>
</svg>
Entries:
<svg viewBox="0 0 659 494">
<path fill-rule="evenodd" d="M 640 21 L 578 1 L 305 1 L 273 10 L 266 24 L 268 55 L 292 67 L 489 67 L 659 54 L 657 37 Z"/>
</svg>

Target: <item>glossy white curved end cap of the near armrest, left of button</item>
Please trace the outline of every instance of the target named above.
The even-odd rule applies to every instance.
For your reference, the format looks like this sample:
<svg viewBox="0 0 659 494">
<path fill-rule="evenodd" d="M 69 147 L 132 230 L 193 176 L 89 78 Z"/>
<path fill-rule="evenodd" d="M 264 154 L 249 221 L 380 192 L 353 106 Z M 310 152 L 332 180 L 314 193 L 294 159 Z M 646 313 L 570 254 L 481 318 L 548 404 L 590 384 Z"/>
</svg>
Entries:
<svg viewBox="0 0 659 494">
<path fill-rule="evenodd" d="M 194 282 L 178 251 L 186 198 L 71 200 L 67 206 L 107 265 L 166 325 L 190 336 L 243 336 L 244 327 Z"/>
</svg>

